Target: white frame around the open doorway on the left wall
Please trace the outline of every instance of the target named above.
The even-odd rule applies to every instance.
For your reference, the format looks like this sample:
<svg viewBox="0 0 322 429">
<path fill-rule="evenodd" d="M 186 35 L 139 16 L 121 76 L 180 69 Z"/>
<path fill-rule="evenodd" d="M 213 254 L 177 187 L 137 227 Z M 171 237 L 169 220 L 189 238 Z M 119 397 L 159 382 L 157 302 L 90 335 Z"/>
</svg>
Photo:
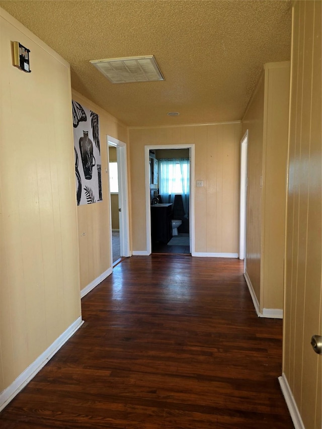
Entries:
<svg viewBox="0 0 322 429">
<path fill-rule="evenodd" d="M 130 228 L 129 228 L 129 202 L 128 202 L 128 179 L 127 179 L 127 152 L 126 143 L 114 137 L 107 136 L 107 160 L 109 173 L 109 151 L 108 147 L 116 147 L 117 170 L 119 183 L 119 220 L 120 220 L 120 253 L 121 256 L 131 256 L 130 253 Z M 110 190 L 109 190 L 110 194 Z M 111 200 L 110 200 L 111 201 Z M 111 267 L 113 267 L 113 249 L 112 249 L 112 212 L 110 203 L 110 230 L 111 230 Z"/>
</svg>

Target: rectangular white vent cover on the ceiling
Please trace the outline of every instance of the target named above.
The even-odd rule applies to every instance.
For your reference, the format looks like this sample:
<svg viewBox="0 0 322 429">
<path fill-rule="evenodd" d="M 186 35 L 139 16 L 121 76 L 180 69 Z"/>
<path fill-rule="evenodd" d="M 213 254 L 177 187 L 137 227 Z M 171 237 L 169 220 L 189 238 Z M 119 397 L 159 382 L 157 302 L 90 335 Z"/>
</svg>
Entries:
<svg viewBox="0 0 322 429">
<path fill-rule="evenodd" d="M 108 58 L 90 61 L 112 83 L 165 80 L 153 55 L 129 58 Z"/>
</svg>

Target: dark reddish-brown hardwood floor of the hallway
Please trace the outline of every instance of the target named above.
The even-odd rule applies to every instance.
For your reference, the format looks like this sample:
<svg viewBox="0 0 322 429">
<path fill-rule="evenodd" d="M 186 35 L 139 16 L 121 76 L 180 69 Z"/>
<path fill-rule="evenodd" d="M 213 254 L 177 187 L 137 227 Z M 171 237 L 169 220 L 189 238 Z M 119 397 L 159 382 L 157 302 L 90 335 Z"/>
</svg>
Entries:
<svg viewBox="0 0 322 429">
<path fill-rule="evenodd" d="M 234 259 L 125 259 L 84 325 L 0 414 L 6 428 L 293 428 L 282 321 L 258 318 Z"/>
</svg>

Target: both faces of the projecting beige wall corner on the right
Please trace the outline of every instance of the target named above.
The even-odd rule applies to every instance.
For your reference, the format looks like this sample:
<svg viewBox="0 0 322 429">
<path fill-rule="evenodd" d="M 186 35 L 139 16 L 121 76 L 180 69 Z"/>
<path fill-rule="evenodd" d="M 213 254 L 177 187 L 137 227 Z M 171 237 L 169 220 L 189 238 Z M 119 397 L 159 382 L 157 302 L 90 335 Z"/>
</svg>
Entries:
<svg viewBox="0 0 322 429">
<path fill-rule="evenodd" d="M 267 63 L 243 120 L 248 129 L 246 272 L 261 314 L 283 308 L 290 64 Z"/>
</svg>

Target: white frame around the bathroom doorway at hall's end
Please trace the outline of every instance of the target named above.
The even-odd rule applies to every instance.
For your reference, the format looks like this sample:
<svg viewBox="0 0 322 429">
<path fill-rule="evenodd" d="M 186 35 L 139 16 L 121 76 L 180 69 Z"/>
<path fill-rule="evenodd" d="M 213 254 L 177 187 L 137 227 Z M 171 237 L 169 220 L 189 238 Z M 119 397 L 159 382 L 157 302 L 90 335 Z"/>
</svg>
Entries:
<svg viewBox="0 0 322 429">
<path fill-rule="evenodd" d="M 189 239 L 191 255 L 195 253 L 195 144 L 156 144 L 144 146 L 145 155 L 145 218 L 146 218 L 146 250 L 152 252 L 151 243 L 151 200 L 150 200 L 150 170 L 149 152 L 155 149 L 189 149 L 190 159 L 190 195 L 189 195 Z"/>
</svg>

